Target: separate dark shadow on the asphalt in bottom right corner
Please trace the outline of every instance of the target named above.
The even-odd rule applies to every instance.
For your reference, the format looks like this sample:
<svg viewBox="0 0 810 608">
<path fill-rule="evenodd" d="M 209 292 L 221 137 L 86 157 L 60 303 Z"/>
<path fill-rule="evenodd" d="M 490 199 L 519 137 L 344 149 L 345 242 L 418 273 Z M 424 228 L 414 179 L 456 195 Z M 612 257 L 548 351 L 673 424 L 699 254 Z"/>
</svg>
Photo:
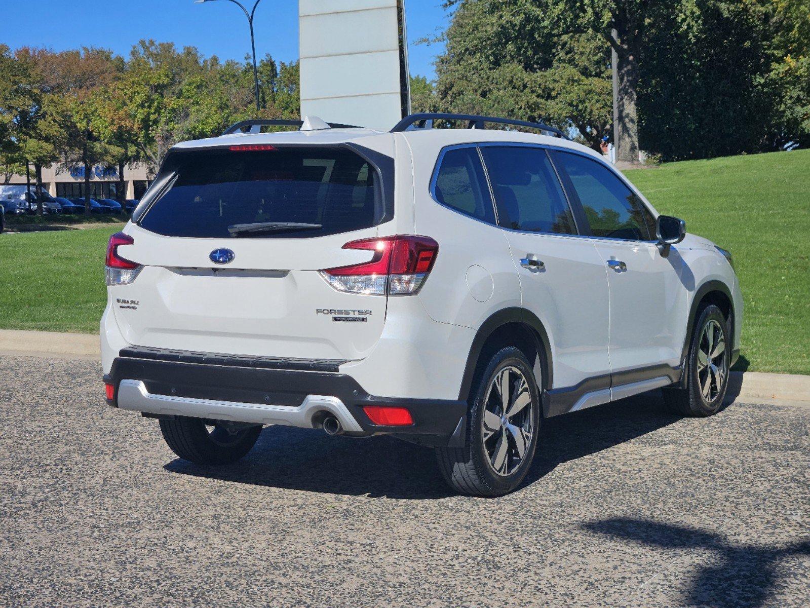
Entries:
<svg viewBox="0 0 810 608">
<path fill-rule="evenodd" d="M 810 555 L 810 539 L 782 547 L 730 542 L 713 532 L 648 520 L 609 519 L 582 526 L 623 542 L 669 550 L 709 550 L 706 563 L 679 572 L 676 558 L 667 570 L 688 580 L 680 606 L 756 608 L 769 600 L 782 559 Z M 765 539 L 766 536 L 763 535 Z M 685 559 L 686 555 L 682 559 Z M 680 568 L 683 568 L 682 566 Z M 799 575 L 800 576 L 800 575 Z"/>
</svg>

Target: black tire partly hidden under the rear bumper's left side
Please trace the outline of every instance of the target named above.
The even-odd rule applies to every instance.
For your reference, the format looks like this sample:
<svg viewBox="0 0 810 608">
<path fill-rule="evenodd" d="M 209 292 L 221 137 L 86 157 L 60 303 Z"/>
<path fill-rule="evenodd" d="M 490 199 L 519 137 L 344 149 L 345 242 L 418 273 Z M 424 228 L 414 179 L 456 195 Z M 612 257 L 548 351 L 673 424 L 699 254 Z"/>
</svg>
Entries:
<svg viewBox="0 0 810 608">
<path fill-rule="evenodd" d="M 209 430 L 210 426 L 213 429 Z M 232 433 L 223 421 L 177 416 L 161 418 L 160 432 L 172 452 L 183 460 L 197 465 L 228 465 L 250 452 L 262 426 L 248 426 Z"/>
</svg>

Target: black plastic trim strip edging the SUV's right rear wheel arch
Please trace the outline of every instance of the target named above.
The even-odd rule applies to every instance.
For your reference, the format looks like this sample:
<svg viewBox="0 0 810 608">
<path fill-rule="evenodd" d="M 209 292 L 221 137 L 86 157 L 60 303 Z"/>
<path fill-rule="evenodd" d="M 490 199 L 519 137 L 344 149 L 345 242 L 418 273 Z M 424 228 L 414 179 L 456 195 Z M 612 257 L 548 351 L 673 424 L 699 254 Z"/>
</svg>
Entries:
<svg viewBox="0 0 810 608">
<path fill-rule="evenodd" d="M 481 323 L 481 327 L 475 333 L 470 352 L 467 354 L 467 365 L 464 367 L 461 389 L 458 391 L 458 400 L 466 401 L 470 395 L 475 368 L 479 364 L 481 351 L 484 349 L 484 344 L 489 336 L 492 336 L 492 333 L 497 328 L 501 328 L 507 323 L 522 323 L 535 330 L 535 339 L 539 336 L 539 342 L 535 346 L 541 358 L 540 363 L 543 366 L 543 386 L 539 387 L 541 394 L 545 393 L 545 388 L 552 386 L 552 349 L 551 343 L 548 341 L 546 328 L 531 310 L 510 306 L 490 315 L 484 323 Z"/>
</svg>

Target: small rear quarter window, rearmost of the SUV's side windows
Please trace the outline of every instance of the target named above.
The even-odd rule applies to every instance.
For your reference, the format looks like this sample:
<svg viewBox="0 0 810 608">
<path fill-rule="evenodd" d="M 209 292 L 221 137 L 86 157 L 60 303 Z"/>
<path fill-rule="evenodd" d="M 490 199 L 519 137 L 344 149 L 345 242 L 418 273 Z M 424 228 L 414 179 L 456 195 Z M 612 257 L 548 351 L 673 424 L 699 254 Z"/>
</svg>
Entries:
<svg viewBox="0 0 810 608">
<path fill-rule="evenodd" d="M 476 148 L 448 150 L 441 158 L 433 194 L 439 203 L 495 224 L 495 211 Z"/>
</svg>

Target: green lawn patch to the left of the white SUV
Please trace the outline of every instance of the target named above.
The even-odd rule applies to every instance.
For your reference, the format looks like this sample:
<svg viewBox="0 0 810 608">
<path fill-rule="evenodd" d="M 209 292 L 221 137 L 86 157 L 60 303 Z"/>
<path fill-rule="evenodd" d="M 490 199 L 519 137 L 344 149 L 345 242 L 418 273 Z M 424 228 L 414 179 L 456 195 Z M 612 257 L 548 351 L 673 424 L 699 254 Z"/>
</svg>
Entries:
<svg viewBox="0 0 810 608">
<path fill-rule="evenodd" d="M 0 328 L 98 332 L 104 253 L 121 227 L 0 234 Z"/>
</svg>

